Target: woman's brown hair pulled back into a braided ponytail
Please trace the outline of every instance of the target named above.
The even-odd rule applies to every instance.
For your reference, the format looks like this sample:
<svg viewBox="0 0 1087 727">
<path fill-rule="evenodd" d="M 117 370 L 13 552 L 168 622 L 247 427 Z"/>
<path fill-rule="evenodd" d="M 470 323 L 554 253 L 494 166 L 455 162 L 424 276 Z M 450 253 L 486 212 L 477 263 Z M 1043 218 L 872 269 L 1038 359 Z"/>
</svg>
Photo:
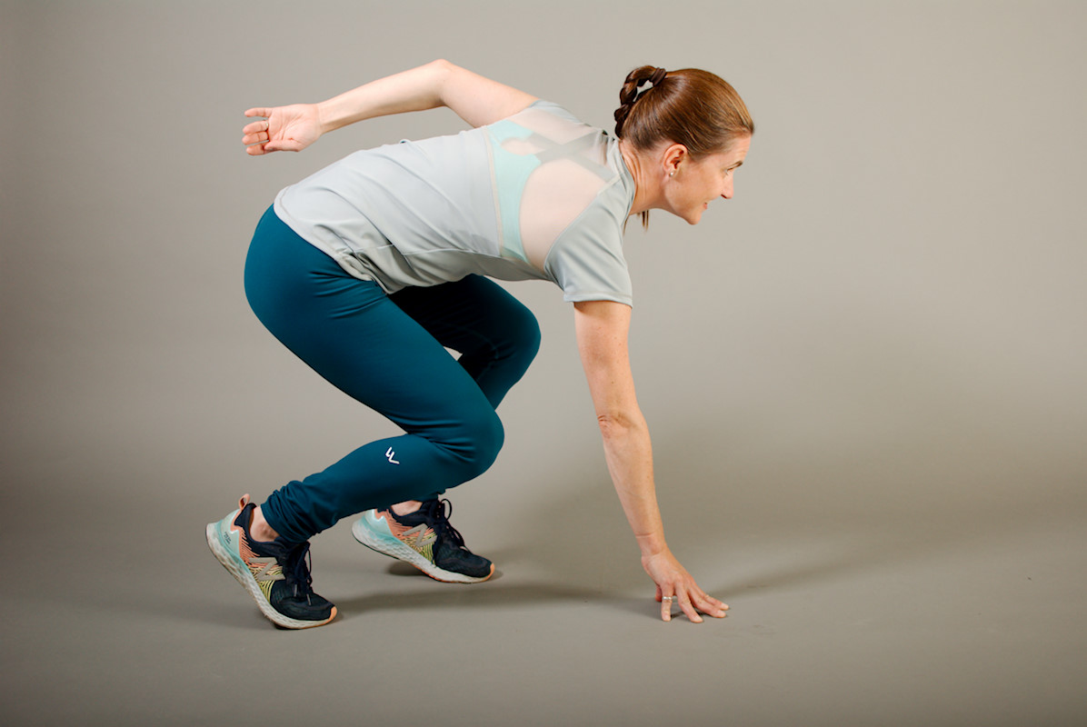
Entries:
<svg viewBox="0 0 1087 727">
<path fill-rule="evenodd" d="M 650 82 L 653 85 L 638 92 Z M 744 99 L 726 80 L 709 71 L 664 72 L 652 65 L 626 76 L 615 110 L 615 136 L 648 151 L 661 141 L 682 143 L 692 160 L 727 149 L 738 137 L 754 134 Z M 642 226 L 649 212 L 641 213 Z"/>
</svg>

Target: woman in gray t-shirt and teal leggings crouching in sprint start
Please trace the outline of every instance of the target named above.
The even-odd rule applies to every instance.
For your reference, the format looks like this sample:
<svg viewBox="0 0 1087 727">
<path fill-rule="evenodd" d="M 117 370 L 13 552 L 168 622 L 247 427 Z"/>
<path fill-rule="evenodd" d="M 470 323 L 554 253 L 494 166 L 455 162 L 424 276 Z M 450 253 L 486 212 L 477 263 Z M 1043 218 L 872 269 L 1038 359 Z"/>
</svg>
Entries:
<svg viewBox="0 0 1087 727">
<path fill-rule="evenodd" d="M 649 87 L 639 92 L 646 83 Z M 630 279 L 622 231 L 651 209 L 696 224 L 733 195 L 754 127 L 704 71 L 633 71 L 615 135 L 446 61 L 320 104 L 250 109 L 253 155 L 300 151 L 364 118 L 445 105 L 473 127 L 360 151 L 279 192 L 246 261 L 246 294 L 287 348 L 404 435 L 365 444 L 261 505 L 208 526 L 220 562 L 278 626 L 328 623 L 309 539 L 362 513 L 355 538 L 434 578 L 477 582 L 493 565 L 464 547 L 438 497 L 485 472 L 495 413 L 539 346 L 532 313 L 488 279 L 548 279 L 574 305 L 609 471 L 657 584 L 661 617 L 723 617 L 664 540 L 649 433 L 627 360 Z M 460 353 L 459 359 L 446 349 Z"/>
</svg>

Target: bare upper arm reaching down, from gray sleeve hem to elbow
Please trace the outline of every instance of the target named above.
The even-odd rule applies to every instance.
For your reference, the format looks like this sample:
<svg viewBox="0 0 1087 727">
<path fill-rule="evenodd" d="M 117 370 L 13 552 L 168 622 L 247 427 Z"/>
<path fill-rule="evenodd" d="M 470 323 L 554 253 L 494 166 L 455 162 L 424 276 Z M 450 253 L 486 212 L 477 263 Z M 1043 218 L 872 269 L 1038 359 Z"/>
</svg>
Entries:
<svg viewBox="0 0 1087 727">
<path fill-rule="evenodd" d="M 630 306 L 609 300 L 574 303 L 574 327 L 597 417 L 635 423 L 641 414 L 627 349 Z"/>
</svg>

